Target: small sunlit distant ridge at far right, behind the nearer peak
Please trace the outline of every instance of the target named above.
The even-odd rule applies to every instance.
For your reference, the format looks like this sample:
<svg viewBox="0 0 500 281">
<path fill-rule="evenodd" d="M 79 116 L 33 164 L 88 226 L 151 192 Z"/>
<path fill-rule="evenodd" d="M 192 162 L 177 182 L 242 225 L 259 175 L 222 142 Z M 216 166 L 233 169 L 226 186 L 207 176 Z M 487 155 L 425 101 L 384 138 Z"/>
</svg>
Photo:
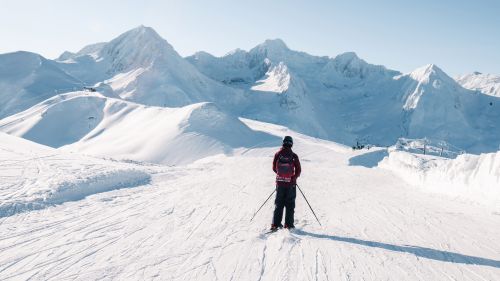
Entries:
<svg viewBox="0 0 500 281">
<path fill-rule="evenodd" d="M 485 95 L 500 97 L 500 76 L 474 72 L 457 78 L 462 87 L 477 90 Z"/>
</svg>

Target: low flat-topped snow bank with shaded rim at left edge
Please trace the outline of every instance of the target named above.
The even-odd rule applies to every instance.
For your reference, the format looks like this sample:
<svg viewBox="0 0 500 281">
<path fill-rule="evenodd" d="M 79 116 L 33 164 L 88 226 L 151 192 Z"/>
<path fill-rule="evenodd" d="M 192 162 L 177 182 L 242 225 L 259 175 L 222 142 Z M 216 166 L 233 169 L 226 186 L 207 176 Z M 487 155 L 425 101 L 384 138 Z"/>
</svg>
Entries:
<svg viewBox="0 0 500 281">
<path fill-rule="evenodd" d="M 0 133 L 0 217 L 147 184 L 128 164 L 66 154 Z"/>
</svg>

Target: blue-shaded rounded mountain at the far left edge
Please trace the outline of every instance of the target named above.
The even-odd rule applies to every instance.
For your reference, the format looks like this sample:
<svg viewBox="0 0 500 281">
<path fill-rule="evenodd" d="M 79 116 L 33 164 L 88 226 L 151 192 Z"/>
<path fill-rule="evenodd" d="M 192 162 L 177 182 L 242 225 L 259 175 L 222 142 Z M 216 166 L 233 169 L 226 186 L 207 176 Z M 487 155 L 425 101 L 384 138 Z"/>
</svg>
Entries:
<svg viewBox="0 0 500 281">
<path fill-rule="evenodd" d="M 0 54 L 0 119 L 75 88 L 80 81 L 40 55 Z"/>
</svg>

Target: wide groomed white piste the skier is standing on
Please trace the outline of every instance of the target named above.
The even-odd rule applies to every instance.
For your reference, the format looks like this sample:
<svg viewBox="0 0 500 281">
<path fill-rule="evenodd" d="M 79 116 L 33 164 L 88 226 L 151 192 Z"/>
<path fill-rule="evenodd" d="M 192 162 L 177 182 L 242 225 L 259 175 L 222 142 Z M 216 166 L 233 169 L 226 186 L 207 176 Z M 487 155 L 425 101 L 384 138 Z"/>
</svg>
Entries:
<svg viewBox="0 0 500 281">
<path fill-rule="evenodd" d="M 363 152 L 295 142 L 323 227 L 298 193 L 298 229 L 262 234 L 272 201 L 249 219 L 272 192 L 274 149 L 245 150 L 147 167 L 147 185 L 0 217 L 0 280 L 500 279 L 500 216 L 489 208 L 349 166 Z M 57 153 L 42 157 L 0 159 L 21 179 L 9 189 L 64 172 L 47 165 Z"/>
</svg>

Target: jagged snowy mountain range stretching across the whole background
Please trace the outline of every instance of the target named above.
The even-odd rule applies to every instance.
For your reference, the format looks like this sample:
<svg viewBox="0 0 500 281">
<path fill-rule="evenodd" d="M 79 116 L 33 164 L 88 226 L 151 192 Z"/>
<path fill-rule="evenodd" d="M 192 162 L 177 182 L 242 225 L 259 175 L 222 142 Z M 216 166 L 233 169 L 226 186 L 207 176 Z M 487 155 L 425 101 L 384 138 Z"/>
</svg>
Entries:
<svg viewBox="0 0 500 281">
<path fill-rule="evenodd" d="M 8 70 L 11 64 L 30 69 L 14 60 L 2 67 Z M 400 137 L 429 138 L 476 153 L 496 151 L 500 143 L 500 97 L 466 90 L 435 65 L 402 74 L 353 52 L 330 58 L 294 51 L 280 39 L 222 57 L 198 52 L 182 58 L 144 26 L 45 64 L 62 78 L 40 76 L 36 85 L 69 85 L 47 86 L 50 95 L 26 103 L 29 99 L 19 101 L 8 93 L 22 93 L 30 84 L 16 82 L 5 70 L 0 73 L 7 89 L 0 93 L 4 117 L 59 93 L 54 88 L 94 85 L 107 97 L 143 105 L 211 102 L 228 116 L 280 124 L 347 145 L 389 146 Z M 83 136 L 71 139 L 77 142 L 78 137 Z"/>
</svg>

